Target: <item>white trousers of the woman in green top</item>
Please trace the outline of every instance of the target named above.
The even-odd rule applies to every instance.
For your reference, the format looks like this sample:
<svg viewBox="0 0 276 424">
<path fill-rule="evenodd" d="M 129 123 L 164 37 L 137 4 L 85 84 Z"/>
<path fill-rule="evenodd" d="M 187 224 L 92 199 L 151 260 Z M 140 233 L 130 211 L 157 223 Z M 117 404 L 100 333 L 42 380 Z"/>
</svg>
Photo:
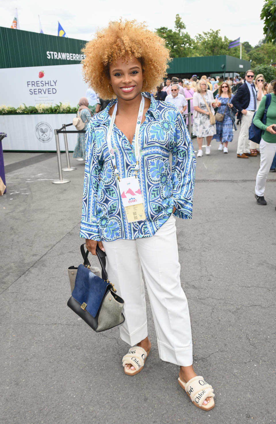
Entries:
<svg viewBox="0 0 276 424">
<path fill-rule="evenodd" d="M 265 183 L 276 152 L 276 143 L 268 143 L 264 139 L 260 142 L 260 169 L 256 176 L 255 193 L 257 196 L 263 196 L 265 192 Z"/>
</svg>

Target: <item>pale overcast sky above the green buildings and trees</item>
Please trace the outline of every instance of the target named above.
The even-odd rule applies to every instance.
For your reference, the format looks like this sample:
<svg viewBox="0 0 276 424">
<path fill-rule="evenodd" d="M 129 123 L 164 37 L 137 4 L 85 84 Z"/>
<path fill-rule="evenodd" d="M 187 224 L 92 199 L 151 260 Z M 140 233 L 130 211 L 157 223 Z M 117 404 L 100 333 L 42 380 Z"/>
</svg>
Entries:
<svg viewBox="0 0 276 424">
<path fill-rule="evenodd" d="M 68 37 L 90 40 L 96 29 L 106 26 L 110 20 L 122 17 L 146 21 L 152 30 L 161 26 L 174 28 L 178 13 L 192 37 L 210 28 L 220 29 L 222 36 L 232 40 L 240 36 L 242 42 L 248 41 L 254 46 L 264 37 L 260 20 L 262 5 L 261 0 L 181 0 L 175 3 L 164 0 L 0 0 L 0 26 L 11 26 L 17 7 L 22 30 L 39 32 L 39 15 L 45 34 L 57 35 L 59 20 Z"/>
</svg>

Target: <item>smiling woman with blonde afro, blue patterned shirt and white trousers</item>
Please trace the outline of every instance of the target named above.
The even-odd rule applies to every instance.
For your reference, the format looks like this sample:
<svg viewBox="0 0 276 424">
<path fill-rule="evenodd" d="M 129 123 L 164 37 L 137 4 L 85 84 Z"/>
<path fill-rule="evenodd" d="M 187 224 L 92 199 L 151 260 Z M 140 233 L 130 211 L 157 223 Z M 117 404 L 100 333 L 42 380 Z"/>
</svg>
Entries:
<svg viewBox="0 0 276 424">
<path fill-rule="evenodd" d="M 192 218 L 194 150 L 178 109 L 150 95 L 166 75 L 164 44 L 144 24 L 120 21 L 83 50 L 84 79 L 99 97 L 114 100 L 87 127 L 80 236 L 92 254 L 97 244 L 106 252 L 108 278 L 125 302 L 125 374 L 140 372 L 151 348 L 143 270 L 159 356 L 180 366 L 180 386 L 194 405 L 210 410 L 213 389 L 192 365 L 175 227 L 176 217 Z"/>
</svg>

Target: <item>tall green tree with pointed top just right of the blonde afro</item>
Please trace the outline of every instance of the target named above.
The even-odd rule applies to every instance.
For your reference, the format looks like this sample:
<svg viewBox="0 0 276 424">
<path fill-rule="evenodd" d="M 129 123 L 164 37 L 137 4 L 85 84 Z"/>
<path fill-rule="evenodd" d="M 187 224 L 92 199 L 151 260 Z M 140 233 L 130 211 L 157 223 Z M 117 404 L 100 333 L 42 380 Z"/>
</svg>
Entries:
<svg viewBox="0 0 276 424">
<path fill-rule="evenodd" d="M 166 40 L 166 47 L 170 50 L 171 57 L 187 57 L 192 52 L 193 40 L 187 32 L 186 25 L 179 14 L 175 17 L 175 31 L 167 27 L 156 28 L 158 35 Z"/>
</svg>

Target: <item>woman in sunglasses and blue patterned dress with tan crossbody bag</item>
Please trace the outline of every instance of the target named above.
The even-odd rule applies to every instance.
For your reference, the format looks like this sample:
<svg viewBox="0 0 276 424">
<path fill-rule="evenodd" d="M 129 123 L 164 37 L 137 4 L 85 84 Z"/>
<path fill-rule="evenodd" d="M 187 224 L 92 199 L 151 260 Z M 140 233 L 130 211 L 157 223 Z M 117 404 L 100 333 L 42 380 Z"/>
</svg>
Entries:
<svg viewBox="0 0 276 424">
<path fill-rule="evenodd" d="M 216 121 L 217 134 L 213 137 L 213 139 L 220 142 L 218 150 L 223 149 L 223 153 L 228 153 L 228 142 L 233 140 L 233 114 L 231 114 L 229 109 L 233 108 L 231 103 L 233 97 L 230 85 L 227 82 L 223 82 L 218 88 L 214 107 L 218 106 L 218 102 L 220 102 L 217 112 L 224 114 L 224 119 L 223 121 Z"/>
</svg>

